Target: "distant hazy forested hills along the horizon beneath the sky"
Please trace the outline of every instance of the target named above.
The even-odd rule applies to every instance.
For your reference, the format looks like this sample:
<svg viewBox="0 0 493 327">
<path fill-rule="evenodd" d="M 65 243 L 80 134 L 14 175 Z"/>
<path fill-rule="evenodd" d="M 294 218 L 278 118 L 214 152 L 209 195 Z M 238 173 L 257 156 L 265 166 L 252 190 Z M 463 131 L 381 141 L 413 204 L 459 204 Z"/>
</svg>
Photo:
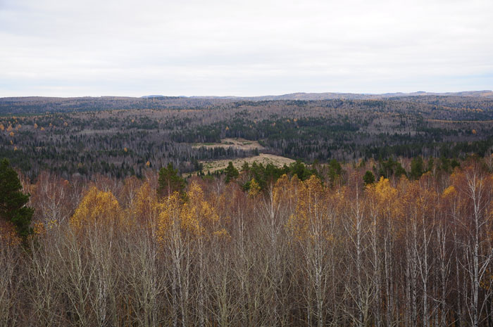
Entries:
<svg viewBox="0 0 493 327">
<path fill-rule="evenodd" d="M 325 100 L 379 100 L 398 103 L 418 103 L 451 108 L 487 107 L 493 105 L 493 91 L 465 91 L 458 93 L 434 94 L 415 92 L 411 94 L 342 94 L 342 93 L 294 93 L 280 96 L 101 96 L 81 98 L 50 98 L 40 96 L 0 98 L 0 115 L 29 113 L 68 113 L 73 111 L 94 111 L 114 109 L 179 109 L 211 108 L 216 106 L 237 106 L 249 101 L 325 101 Z M 358 105 L 358 103 L 356 103 Z M 411 110 L 413 108 L 410 108 Z"/>
</svg>

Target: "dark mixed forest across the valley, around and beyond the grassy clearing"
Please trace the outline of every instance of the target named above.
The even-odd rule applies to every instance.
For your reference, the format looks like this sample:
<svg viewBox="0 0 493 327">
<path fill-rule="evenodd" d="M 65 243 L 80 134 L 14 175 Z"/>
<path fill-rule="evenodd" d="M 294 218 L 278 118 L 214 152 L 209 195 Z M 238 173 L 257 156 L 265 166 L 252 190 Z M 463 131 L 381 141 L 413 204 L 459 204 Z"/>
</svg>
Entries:
<svg viewBox="0 0 493 327">
<path fill-rule="evenodd" d="M 208 146 L 227 138 L 263 148 Z M 493 98 L 485 96 L 0 99 L 0 158 L 32 179 L 44 170 L 142 178 L 168 162 L 196 174 L 208 160 L 259 151 L 327 163 L 485 156 L 492 146 Z"/>
</svg>

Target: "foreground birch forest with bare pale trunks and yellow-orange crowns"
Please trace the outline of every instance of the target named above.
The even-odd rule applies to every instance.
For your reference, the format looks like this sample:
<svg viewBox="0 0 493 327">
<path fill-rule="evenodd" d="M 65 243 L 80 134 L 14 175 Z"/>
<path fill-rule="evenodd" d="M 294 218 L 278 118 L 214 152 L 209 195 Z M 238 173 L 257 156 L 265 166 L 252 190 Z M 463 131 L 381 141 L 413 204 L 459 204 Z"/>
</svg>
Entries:
<svg viewBox="0 0 493 327">
<path fill-rule="evenodd" d="M 492 156 L 142 174 L 2 162 L 1 326 L 493 325 Z"/>
</svg>

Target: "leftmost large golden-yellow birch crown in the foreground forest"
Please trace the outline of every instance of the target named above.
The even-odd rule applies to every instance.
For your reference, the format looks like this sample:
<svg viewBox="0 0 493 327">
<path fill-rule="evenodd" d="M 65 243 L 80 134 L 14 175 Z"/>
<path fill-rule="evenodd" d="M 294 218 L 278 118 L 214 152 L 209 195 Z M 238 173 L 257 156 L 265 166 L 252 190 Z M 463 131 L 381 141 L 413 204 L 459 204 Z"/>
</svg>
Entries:
<svg viewBox="0 0 493 327">
<path fill-rule="evenodd" d="M 83 229 L 92 224 L 113 225 L 120 223 L 122 218 L 123 210 L 115 195 L 92 187 L 70 218 L 70 225 L 75 229 Z"/>
</svg>

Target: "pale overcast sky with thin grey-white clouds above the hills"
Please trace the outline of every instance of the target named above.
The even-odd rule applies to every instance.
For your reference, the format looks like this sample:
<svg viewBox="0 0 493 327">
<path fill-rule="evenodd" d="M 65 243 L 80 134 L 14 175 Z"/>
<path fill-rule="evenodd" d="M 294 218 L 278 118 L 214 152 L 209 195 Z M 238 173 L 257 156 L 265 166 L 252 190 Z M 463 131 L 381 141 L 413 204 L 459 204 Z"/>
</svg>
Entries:
<svg viewBox="0 0 493 327">
<path fill-rule="evenodd" d="M 0 97 L 493 89 L 493 0 L 0 0 Z"/>
</svg>

